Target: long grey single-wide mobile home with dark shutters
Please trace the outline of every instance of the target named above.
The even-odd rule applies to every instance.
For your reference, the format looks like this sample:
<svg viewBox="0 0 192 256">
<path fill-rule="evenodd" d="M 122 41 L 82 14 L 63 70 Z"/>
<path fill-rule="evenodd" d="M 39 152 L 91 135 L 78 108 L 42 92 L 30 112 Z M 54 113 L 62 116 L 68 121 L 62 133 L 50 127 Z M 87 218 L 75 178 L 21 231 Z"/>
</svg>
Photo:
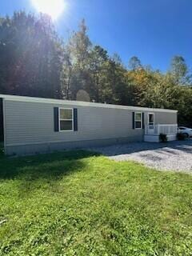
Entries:
<svg viewBox="0 0 192 256">
<path fill-rule="evenodd" d="M 177 110 L 0 94 L 6 154 L 174 140 Z"/>
</svg>

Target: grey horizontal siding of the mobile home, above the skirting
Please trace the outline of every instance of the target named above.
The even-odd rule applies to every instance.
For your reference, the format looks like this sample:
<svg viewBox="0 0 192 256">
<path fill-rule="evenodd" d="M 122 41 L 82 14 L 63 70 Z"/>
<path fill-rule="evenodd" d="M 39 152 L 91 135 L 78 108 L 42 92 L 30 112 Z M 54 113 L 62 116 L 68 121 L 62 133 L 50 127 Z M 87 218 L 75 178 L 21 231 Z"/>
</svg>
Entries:
<svg viewBox="0 0 192 256">
<path fill-rule="evenodd" d="M 131 110 L 106 108 L 106 106 L 103 108 L 75 104 L 69 106 L 64 102 L 61 106 L 52 102 L 5 100 L 6 144 L 10 146 L 108 138 L 142 141 L 144 130 L 133 129 Z M 54 132 L 54 107 L 78 108 L 77 132 Z M 155 113 L 156 123 L 177 124 L 177 113 L 165 113 L 165 110 L 162 113 Z"/>
</svg>

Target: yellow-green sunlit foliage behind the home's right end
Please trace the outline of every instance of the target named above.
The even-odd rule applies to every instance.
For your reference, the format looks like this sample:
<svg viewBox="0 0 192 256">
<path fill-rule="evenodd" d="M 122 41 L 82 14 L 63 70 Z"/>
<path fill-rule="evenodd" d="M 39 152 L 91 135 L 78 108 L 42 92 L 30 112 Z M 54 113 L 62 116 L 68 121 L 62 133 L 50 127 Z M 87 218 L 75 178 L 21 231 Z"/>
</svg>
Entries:
<svg viewBox="0 0 192 256">
<path fill-rule="evenodd" d="M 150 69 L 127 71 L 135 106 L 149 106 L 178 110 L 178 123 L 192 126 L 192 87 L 174 82 L 170 74 Z"/>
</svg>

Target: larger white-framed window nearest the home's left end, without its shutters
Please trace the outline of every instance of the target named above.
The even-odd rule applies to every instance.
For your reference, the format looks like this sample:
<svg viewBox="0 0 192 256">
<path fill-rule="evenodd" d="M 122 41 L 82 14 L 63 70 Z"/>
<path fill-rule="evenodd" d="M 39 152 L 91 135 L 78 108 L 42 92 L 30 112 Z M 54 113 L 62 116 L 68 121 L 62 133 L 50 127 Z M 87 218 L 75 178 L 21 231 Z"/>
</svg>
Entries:
<svg viewBox="0 0 192 256">
<path fill-rule="evenodd" d="M 74 130 L 74 113 L 73 109 L 59 109 L 59 130 Z"/>
</svg>

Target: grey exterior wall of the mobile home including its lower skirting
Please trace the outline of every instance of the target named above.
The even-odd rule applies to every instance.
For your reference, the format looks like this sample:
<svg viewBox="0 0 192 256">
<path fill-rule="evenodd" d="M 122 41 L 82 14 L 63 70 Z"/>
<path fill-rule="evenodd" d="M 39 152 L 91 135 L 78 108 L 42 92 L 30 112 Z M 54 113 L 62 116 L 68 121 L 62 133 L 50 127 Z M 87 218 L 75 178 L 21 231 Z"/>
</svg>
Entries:
<svg viewBox="0 0 192 256">
<path fill-rule="evenodd" d="M 1 96 L 1 95 L 0 95 Z M 3 98 L 7 154 L 25 154 L 88 146 L 98 142 L 142 141 L 144 129 L 133 129 L 132 112 L 154 112 L 155 124 L 177 124 L 177 111 L 152 110 L 87 102 L 12 96 Z M 54 131 L 54 107 L 78 109 L 78 131 Z M 81 143 L 82 142 L 82 143 Z M 39 146 L 38 146 L 39 145 Z"/>
</svg>

